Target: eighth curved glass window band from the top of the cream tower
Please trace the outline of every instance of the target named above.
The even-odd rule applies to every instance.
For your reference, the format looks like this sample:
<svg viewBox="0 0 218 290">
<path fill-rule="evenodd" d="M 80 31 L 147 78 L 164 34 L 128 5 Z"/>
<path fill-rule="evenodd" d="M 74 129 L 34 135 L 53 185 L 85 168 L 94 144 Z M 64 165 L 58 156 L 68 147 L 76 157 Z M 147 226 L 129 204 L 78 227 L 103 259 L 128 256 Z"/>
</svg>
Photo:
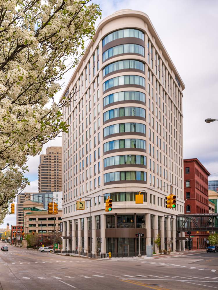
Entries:
<svg viewBox="0 0 218 290">
<path fill-rule="evenodd" d="M 121 148 L 139 148 L 146 150 L 146 141 L 142 139 L 120 139 L 104 143 L 104 152 Z"/>
</svg>

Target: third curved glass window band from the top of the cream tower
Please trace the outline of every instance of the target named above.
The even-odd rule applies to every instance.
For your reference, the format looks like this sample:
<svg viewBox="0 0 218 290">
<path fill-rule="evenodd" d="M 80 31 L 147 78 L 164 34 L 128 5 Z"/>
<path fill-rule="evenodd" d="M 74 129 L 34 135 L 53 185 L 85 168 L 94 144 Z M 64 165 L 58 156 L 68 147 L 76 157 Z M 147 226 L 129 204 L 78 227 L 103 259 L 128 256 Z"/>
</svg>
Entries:
<svg viewBox="0 0 218 290">
<path fill-rule="evenodd" d="M 103 77 L 108 73 L 112 73 L 116 70 L 124 70 L 128 68 L 143 70 L 144 72 L 144 63 L 134 59 L 115 61 L 112 64 L 108 64 L 108 66 L 103 69 Z"/>
</svg>

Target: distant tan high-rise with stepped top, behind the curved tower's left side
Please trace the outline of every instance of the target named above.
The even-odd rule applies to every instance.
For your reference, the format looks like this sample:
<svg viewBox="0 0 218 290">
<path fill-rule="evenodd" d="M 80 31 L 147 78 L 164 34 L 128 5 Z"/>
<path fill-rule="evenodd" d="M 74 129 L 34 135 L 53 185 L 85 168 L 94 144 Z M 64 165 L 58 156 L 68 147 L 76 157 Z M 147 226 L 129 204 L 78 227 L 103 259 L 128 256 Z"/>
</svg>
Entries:
<svg viewBox="0 0 218 290">
<path fill-rule="evenodd" d="M 38 191 L 62 191 L 62 147 L 48 147 L 40 155 Z"/>
</svg>

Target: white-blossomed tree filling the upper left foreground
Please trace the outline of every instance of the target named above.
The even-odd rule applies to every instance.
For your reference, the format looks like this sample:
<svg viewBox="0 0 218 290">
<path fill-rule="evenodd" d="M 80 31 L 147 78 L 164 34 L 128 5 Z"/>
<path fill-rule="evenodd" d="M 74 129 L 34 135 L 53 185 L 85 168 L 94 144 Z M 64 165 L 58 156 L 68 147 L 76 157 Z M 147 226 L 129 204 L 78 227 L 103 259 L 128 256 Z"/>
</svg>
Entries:
<svg viewBox="0 0 218 290">
<path fill-rule="evenodd" d="M 59 102 L 55 94 L 85 53 L 99 16 L 90 0 L 0 0 L 0 224 L 28 184 L 28 156 L 67 133 L 61 111 L 76 88 Z"/>
</svg>

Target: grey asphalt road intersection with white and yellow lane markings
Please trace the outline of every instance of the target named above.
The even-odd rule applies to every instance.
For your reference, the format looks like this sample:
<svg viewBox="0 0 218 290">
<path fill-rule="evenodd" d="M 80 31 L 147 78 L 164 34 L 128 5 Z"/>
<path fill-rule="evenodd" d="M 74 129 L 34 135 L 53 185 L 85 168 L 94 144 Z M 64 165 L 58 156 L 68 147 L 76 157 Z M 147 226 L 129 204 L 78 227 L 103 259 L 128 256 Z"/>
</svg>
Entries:
<svg viewBox="0 0 218 290">
<path fill-rule="evenodd" d="M 218 289 L 217 259 L 218 253 L 187 253 L 94 260 L 9 246 L 0 251 L 0 290 Z"/>
</svg>

